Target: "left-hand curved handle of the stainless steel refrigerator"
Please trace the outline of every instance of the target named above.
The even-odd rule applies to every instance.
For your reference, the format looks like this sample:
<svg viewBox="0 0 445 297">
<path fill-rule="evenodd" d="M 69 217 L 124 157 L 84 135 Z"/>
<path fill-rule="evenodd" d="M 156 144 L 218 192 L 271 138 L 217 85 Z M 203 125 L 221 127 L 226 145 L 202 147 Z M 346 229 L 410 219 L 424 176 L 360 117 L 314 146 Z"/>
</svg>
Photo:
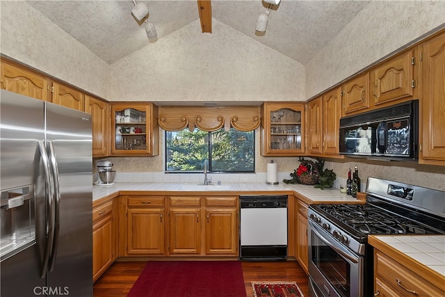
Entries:
<svg viewBox="0 0 445 297">
<path fill-rule="evenodd" d="M 44 172 L 44 183 L 45 183 L 45 205 L 47 207 L 47 215 L 45 218 L 45 244 L 44 244 L 44 254 L 42 260 L 42 266 L 40 267 L 40 278 L 44 278 L 47 274 L 49 257 L 51 255 L 51 250 L 53 248 L 54 241 L 54 181 L 51 175 L 51 168 L 49 167 L 49 158 L 47 155 L 47 150 L 45 150 L 45 145 L 43 141 L 39 141 L 40 149 L 40 159 L 43 163 Z"/>
</svg>

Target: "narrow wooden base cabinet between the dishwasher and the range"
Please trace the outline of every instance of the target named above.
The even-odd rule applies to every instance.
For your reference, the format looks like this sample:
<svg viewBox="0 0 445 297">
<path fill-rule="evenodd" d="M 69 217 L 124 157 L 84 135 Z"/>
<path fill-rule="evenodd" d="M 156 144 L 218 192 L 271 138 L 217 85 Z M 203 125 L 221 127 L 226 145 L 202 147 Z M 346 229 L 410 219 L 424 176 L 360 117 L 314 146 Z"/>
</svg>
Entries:
<svg viewBox="0 0 445 297">
<path fill-rule="evenodd" d="M 308 205 L 305 202 L 298 200 L 298 214 L 297 214 L 297 261 L 308 274 L 308 252 L 307 252 L 307 210 Z"/>
</svg>

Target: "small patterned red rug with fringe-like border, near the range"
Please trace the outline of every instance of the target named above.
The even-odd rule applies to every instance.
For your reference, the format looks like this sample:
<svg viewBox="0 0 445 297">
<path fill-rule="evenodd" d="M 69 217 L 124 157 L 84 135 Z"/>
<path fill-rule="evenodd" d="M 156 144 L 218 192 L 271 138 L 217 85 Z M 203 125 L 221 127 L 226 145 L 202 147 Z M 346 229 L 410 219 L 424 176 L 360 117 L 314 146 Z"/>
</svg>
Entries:
<svg viewBox="0 0 445 297">
<path fill-rule="evenodd" d="M 254 297 L 304 297 L 296 282 L 252 282 Z"/>
</svg>

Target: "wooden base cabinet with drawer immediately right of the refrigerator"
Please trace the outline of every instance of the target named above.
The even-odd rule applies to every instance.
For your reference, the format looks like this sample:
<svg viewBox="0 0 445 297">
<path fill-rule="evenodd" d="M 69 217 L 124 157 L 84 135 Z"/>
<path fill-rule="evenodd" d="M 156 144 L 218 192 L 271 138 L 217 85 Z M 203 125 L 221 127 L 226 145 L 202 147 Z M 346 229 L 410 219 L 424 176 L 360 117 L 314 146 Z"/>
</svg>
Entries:
<svg viewBox="0 0 445 297">
<path fill-rule="evenodd" d="M 95 282 L 117 258 L 115 214 L 118 203 L 109 200 L 92 210 L 92 280 Z"/>
</svg>

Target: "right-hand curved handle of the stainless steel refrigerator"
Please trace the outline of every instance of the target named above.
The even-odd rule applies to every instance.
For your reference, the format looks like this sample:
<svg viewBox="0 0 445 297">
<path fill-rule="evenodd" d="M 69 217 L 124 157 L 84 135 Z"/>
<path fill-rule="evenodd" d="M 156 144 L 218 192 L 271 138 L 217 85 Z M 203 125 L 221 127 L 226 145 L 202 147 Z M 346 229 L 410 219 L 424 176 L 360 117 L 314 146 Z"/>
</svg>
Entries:
<svg viewBox="0 0 445 297">
<path fill-rule="evenodd" d="M 60 182 L 59 182 L 56 154 L 54 152 L 54 145 L 52 141 L 48 141 L 48 154 L 49 154 L 49 163 L 51 166 L 51 173 L 53 175 L 53 181 L 54 181 L 54 241 L 51 250 L 49 271 L 54 271 L 54 265 L 56 264 L 56 256 L 58 250 L 58 234 L 60 230 Z"/>
</svg>

